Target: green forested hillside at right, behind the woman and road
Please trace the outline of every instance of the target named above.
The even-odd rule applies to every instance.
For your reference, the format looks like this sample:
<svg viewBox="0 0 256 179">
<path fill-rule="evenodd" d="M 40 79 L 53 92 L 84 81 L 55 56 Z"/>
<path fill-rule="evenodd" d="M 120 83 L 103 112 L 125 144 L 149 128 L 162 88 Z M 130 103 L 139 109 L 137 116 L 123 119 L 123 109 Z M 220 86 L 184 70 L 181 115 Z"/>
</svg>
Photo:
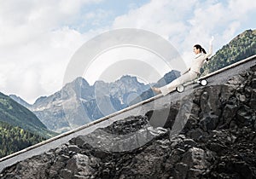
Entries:
<svg viewBox="0 0 256 179">
<path fill-rule="evenodd" d="M 203 75 L 256 54 L 256 30 L 247 30 L 219 49 L 203 66 Z"/>
</svg>

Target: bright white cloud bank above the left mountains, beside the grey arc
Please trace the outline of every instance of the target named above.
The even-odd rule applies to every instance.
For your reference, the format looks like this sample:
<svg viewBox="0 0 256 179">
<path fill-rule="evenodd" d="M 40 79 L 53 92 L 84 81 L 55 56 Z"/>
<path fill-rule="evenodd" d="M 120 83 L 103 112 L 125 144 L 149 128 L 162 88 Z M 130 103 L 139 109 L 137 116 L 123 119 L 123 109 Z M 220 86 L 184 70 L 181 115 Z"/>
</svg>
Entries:
<svg viewBox="0 0 256 179">
<path fill-rule="evenodd" d="M 23 45 L 0 52 L 1 91 L 34 102 L 40 95 L 60 90 L 68 62 L 95 33 L 81 34 L 68 27 L 45 32 Z M 1 77 L 0 76 L 0 77 Z"/>
</svg>

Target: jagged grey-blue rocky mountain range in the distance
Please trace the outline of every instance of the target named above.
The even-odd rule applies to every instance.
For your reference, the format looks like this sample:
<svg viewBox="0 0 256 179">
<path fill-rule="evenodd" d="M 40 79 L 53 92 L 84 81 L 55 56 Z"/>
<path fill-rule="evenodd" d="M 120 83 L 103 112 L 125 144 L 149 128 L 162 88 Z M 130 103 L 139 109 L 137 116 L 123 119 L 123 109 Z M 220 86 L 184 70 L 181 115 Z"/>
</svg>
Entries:
<svg viewBox="0 0 256 179">
<path fill-rule="evenodd" d="M 129 75 L 113 83 L 96 81 L 93 85 L 79 77 L 55 94 L 39 97 L 32 105 L 18 96 L 10 97 L 35 113 L 49 130 L 61 133 L 128 107 L 148 89 L 149 85 Z"/>
</svg>

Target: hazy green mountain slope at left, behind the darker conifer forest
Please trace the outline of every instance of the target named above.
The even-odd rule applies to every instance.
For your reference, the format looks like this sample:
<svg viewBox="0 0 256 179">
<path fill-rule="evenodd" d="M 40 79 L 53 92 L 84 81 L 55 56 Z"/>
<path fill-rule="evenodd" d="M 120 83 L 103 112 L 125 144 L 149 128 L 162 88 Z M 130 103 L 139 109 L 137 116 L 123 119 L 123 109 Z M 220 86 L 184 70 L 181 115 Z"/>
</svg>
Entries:
<svg viewBox="0 0 256 179">
<path fill-rule="evenodd" d="M 8 95 L 3 95 L 3 93 L 0 93 L 0 121 L 14 127 L 18 126 L 23 130 L 44 136 L 45 138 L 56 135 L 56 133 L 47 130 L 34 113 L 26 107 L 22 107 Z"/>
</svg>

